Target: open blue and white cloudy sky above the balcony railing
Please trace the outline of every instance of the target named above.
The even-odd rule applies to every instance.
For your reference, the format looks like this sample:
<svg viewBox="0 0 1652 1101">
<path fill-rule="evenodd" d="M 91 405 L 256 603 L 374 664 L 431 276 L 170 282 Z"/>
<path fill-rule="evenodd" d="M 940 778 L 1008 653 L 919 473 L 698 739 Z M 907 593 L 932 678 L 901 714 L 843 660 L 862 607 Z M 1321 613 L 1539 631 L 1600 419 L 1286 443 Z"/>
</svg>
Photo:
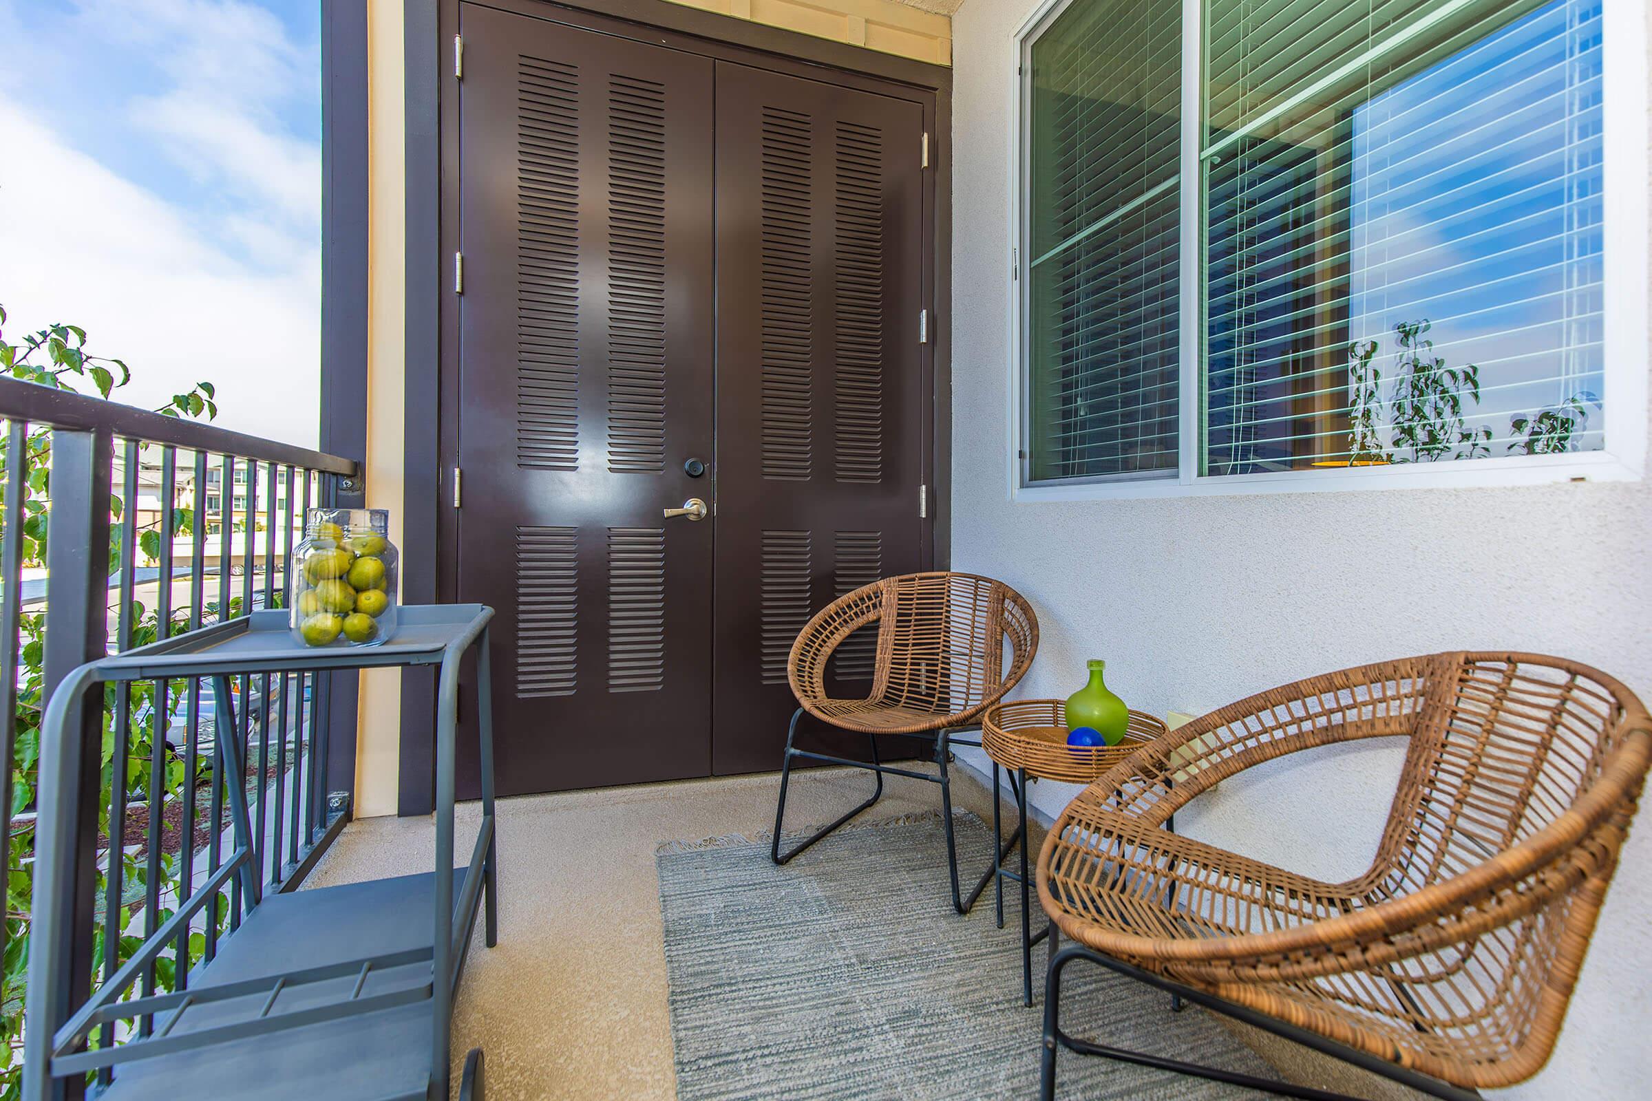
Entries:
<svg viewBox="0 0 1652 1101">
<path fill-rule="evenodd" d="M 314 444 L 319 0 L 0 0 L 0 304 Z M 273 399 L 274 398 L 274 399 Z"/>
</svg>

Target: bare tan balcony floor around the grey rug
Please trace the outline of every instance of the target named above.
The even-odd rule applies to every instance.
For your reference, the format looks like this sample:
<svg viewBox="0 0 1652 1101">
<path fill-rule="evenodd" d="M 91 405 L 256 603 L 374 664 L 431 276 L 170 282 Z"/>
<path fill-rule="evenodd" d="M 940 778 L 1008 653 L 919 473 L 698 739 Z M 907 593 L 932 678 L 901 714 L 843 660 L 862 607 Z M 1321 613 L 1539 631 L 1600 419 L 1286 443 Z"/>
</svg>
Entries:
<svg viewBox="0 0 1652 1101">
<path fill-rule="evenodd" d="M 955 804 L 991 820 L 986 787 L 961 766 L 953 777 Z M 795 773 L 788 827 L 829 822 L 869 787 L 857 769 Z M 487 1101 L 676 1098 L 654 850 L 768 830 L 778 791 L 778 774 L 765 774 L 501 799 L 499 944 L 484 949 L 477 929 L 454 1014 L 454 1091 L 464 1053 L 482 1047 Z M 938 807 L 935 784 L 890 776 L 867 819 Z M 477 804 L 456 812 L 464 853 L 477 815 Z M 426 872 L 433 860 L 430 819 L 365 819 L 312 885 Z"/>
</svg>

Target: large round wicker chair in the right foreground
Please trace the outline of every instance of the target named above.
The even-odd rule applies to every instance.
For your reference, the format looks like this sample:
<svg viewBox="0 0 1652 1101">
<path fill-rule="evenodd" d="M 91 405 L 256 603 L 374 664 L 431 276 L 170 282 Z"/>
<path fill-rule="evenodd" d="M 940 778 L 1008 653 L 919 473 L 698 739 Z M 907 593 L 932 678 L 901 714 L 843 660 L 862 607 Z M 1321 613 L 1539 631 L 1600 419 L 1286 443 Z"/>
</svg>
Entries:
<svg viewBox="0 0 1652 1101">
<path fill-rule="evenodd" d="M 1381 736 L 1411 744 L 1376 860 L 1355 880 L 1160 829 L 1254 764 Z M 1535 654 L 1350 669 L 1145 746 L 1074 799 L 1039 855 L 1044 1096 L 1057 1045 L 1142 1058 L 1061 1032 L 1061 974 L 1077 957 L 1434 1096 L 1530 1078 L 1559 1033 L 1649 759 L 1652 720 L 1624 685 Z M 1077 944 L 1057 951 L 1057 929 Z"/>
</svg>

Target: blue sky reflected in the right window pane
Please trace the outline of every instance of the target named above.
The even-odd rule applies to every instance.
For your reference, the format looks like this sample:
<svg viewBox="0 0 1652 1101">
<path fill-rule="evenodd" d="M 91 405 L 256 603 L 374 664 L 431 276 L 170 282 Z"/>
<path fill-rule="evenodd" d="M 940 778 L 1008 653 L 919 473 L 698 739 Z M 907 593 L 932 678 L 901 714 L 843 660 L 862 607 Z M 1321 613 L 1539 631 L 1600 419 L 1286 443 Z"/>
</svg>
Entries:
<svg viewBox="0 0 1652 1101">
<path fill-rule="evenodd" d="M 1558 0 L 1355 111 L 1353 335 L 1426 317 L 1498 436 L 1602 391 L 1599 28 Z"/>
</svg>

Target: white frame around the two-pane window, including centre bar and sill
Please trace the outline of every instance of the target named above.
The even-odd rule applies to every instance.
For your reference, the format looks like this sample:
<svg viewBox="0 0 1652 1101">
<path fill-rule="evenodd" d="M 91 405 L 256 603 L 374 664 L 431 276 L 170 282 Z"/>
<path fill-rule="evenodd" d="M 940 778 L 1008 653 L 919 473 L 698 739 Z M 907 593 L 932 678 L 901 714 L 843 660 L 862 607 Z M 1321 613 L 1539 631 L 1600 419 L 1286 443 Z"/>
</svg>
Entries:
<svg viewBox="0 0 1652 1101">
<path fill-rule="evenodd" d="M 1649 267 L 1647 160 L 1647 20 L 1640 3 L 1602 2 L 1602 451 L 1559 456 L 1492 456 L 1485 459 L 1388 467 L 1322 467 L 1256 474 L 1198 474 L 1204 403 L 1204 177 L 1199 160 L 1203 124 L 1204 0 L 1181 0 L 1181 238 L 1180 238 L 1180 393 L 1178 469 L 1173 475 L 1029 480 L 1031 475 L 1031 50 L 1039 35 L 1080 0 L 1042 0 L 1013 36 L 1009 66 L 1009 309 L 1008 309 L 1008 485 L 1011 500 L 1115 500 L 1231 494 L 1302 494 L 1322 490 L 1421 489 L 1459 485 L 1536 485 L 1546 482 L 1639 480 L 1647 451 L 1645 332 Z"/>
</svg>

